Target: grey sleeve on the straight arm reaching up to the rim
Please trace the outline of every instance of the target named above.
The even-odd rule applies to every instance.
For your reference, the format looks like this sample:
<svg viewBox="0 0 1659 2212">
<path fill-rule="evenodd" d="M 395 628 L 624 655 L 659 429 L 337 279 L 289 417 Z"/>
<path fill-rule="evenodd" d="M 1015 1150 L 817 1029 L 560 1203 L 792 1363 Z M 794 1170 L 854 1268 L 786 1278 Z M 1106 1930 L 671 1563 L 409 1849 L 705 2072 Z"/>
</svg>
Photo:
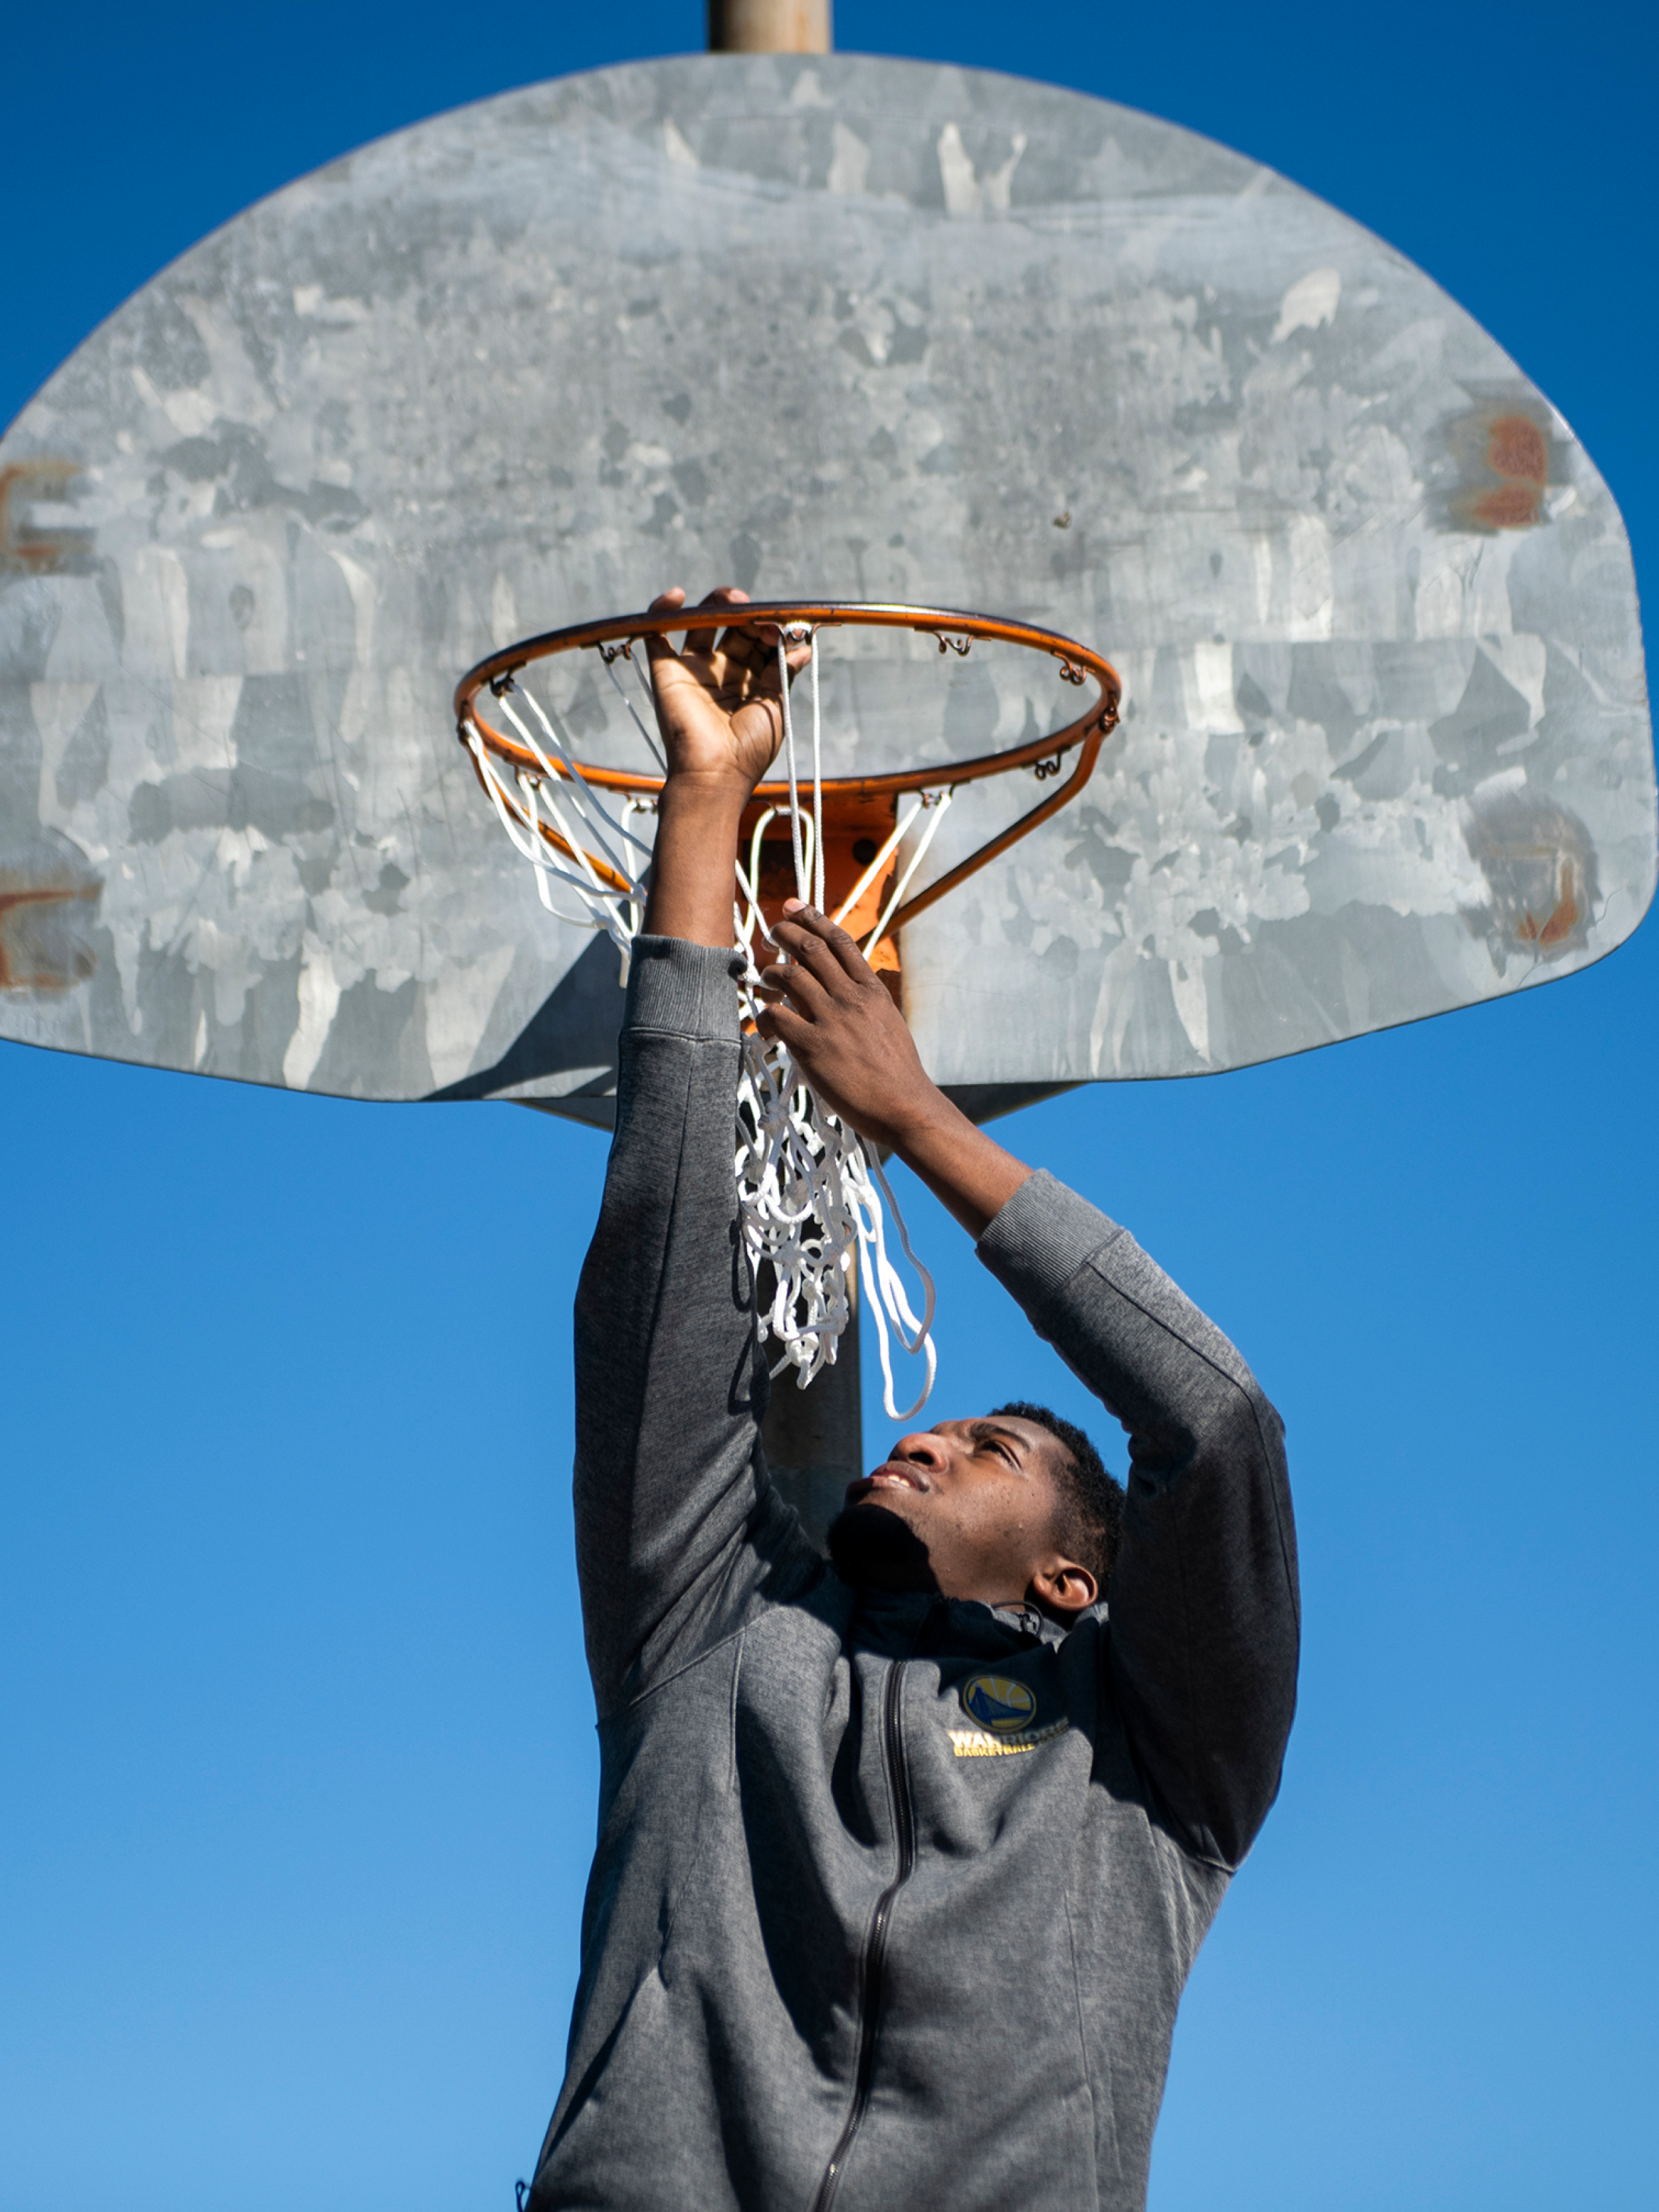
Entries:
<svg viewBox="0 0 1659 2212">
<path fill-rule="evenodd" d="M 816 1557 L 759 1447 L 734 973 L 703 945 L 633 947 L 617 1133 L 575 1294 L 575 1557 L 602 1717 L 721 1632 L 745 1537 Z"/>
</svg>

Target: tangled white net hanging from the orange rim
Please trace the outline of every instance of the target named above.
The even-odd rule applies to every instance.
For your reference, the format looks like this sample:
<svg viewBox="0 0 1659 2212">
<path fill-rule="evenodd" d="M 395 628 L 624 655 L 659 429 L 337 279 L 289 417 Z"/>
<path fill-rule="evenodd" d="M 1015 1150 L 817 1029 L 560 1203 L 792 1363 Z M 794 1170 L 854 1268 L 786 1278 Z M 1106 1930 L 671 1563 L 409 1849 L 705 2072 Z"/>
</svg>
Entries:
<svg viewBox="0 0 1659 2212">
<path fill-rule="evenodd" d="M 787 648 L 810 644 L 807 677 L 812 695 L 812 803 L 801 803 L 794 712 L 790 706 Z M 624 657 L 639 681 L 644 675 L 626 648 L 599 648 L 628 714 L 650 748 L 659 768 L 664 757 L 655 730 L 641 717 L 617 677 Z M 772 1376 L 794 1369 L 801 1389 L 832 1367 L 841 1334 L 852 1318 L 852 1270 L 858 1267 L 865 1305 L 876 1323 L 880 1352 L 883 1402 L 889 1420 L 909 1420 L 927 1405 L 933 1389 L 938 1354 L 933 1349 L 933 1279 L 911 1250 L 905 1219 L 883 1175 L 880 1161 L 865 1150 L 856 1130 L 847 1128 L 801 1075 L 787 1048 L 761 1037 L 757 989 L 761 969 L 757 938 L 772 947 L 759 900 L 761 841 L 774 821 L 787 816 L 796 896 L 823 909 L 823 719 L 818 710 L 818 639 L 801 626 L 779 635 L 779 681 L 783 686 L 783 757 L 790 779 L 790 803 L 761 812 L 748 849 L 739 858 L 732 925 L 737 949 L 745 958 L 743 993 L 743 1062 L 737 1097 L 737 1197 L 743 1241 L 768 1298 L 759 1316 L 761 1340 L 776 1347 Z M 611 803 L 591 783 L 571 748 L 560 737 L 553 717 L 524 684 L 513 677 L 491 686 L 504 719 L 538 763 L 507 768 L 484 743 L 478 726 L 465 726 L 467 748 L 489 792 L 502 830 L 513 847 L 535 869 L 535 889 L 549 914 L 586 929 L 604 929 L 622 951 L 622 975 L 628 975 L 628 951 L 646 907 L 646 869 L 650 836 L 646 832 L 653 805 L 624 796 Z M 529 710 L 522 714 L 518 701 Z M 646 690 L 650 706 L 650 692 Z M 511 776 L 511 781 L 509 781 Z M 891 834 L 878 845 L 858 883 L 836 907 L 834 920 L 845 920 L 858 902 L 883 883 L 894 880 L 880 905 L 880 916 L 865 936 L 865 953 L 874 951 L 898 911 L 916 869 L 951 803 L 949 787 L 918 792 L 898 810 Z M 555 902 L 555 894 L 564 900 Z M 568 911 L 575 900 L 580 911 Z M 781 953 L 779 953 L 781 958 Z M 905 1259 L 916 1272 L 920 1316 L 905 1279 L 887 1252 L 887 1217 L 898 1230 Z M 925 1380 L 914 1405 L 898 1405 L 894 1389 L 894 1338 L 909 1356 L 925 1360 Z"/>
</svg>

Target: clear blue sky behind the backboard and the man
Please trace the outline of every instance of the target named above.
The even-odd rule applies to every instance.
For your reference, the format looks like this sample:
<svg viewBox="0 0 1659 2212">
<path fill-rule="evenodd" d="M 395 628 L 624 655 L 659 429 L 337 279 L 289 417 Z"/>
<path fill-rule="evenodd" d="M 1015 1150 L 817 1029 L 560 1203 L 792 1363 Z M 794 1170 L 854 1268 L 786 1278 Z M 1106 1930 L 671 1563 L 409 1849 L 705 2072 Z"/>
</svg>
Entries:
<svg viewBox="0 0 1659 2212">
<path fill-rule="evenodd" d="M 1146 15 L 847 0 L 836 31 L 1336 201 L 1562 407 L 1652 573 L 1650 13 Z M 11 22 L 0 418 L 343 148 L 699 42 L 686 4 Z M 1659 2203 L 1657 1011 L 1648 925 L 1504 1004 L 1006 1126 L 1290 1425 L 1301 1719 L 1181 2013 L 1155 2212 Z M 602 1141 L 0 1046 L 0 2212 L 504 2212 L 593 1827 L 568 1301 Z M 991 1367 L 1086 1418 L 911 1212 L 938 1411 Z"/>
</svg>

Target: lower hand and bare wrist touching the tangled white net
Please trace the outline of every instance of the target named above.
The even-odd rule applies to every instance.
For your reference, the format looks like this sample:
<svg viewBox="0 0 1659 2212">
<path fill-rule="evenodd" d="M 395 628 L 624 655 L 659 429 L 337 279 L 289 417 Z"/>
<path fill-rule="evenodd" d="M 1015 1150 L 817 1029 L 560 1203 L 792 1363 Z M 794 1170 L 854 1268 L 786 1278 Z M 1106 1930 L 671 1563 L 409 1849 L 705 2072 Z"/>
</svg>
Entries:
<svg viewBox="0 0 1659 2212">
<path fill-rule="evenodd" d="M 1031 1168 L 951 1106 L 920 1062 L 905 1018 L 845 929 L 794 900 L 772 931 L 787 951 L 761 973 L 761 1035 L 787 1044 L 823 1104 L 889 1146 L 982 1237 Z"/>
</svg>

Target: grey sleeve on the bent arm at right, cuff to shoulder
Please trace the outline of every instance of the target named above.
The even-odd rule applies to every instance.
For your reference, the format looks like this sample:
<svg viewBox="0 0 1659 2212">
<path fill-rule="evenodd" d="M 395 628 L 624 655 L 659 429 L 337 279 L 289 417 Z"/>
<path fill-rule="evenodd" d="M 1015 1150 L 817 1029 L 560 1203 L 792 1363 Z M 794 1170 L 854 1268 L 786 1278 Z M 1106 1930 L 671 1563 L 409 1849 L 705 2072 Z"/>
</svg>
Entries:
<svg viewBox="0 0 1659 2212">
<path fill-rule="evenodd" d="M 1296 1533 L 1283 1422 L 1228 1338 L 1051 1175 L 980 1241 L 1031 1325 L 1128 1431 L 1110 1686 L 1186 1845 L 1237 1867 L 1296 1708 Z"/>
</svg>

